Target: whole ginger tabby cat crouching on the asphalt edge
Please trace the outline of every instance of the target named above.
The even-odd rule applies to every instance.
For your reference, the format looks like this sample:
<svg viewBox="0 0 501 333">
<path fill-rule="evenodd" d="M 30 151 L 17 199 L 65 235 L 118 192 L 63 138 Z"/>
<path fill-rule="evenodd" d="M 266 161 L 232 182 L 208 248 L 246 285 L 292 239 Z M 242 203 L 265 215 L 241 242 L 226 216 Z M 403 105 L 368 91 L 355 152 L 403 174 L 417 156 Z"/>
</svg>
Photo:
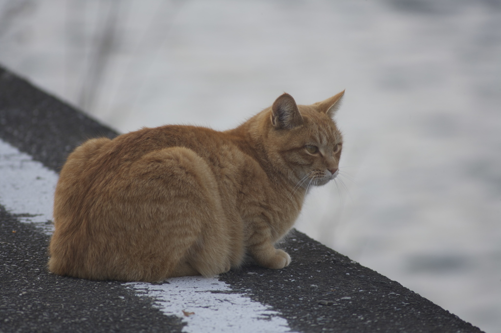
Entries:
<svg viewBox="0 0 501 333">
<path fill-rule="evenodd" d="M 312 105 L 284 93 L 222 132 L 167 125 L 88 140 L 61 170 L 49 269 L 160 281 L 222 273 L 245 255 L 289 265 L 274 244 L 309 186 L 338 174 L 343 139 L 332 117 L 343 93 Z"/>
</svg>

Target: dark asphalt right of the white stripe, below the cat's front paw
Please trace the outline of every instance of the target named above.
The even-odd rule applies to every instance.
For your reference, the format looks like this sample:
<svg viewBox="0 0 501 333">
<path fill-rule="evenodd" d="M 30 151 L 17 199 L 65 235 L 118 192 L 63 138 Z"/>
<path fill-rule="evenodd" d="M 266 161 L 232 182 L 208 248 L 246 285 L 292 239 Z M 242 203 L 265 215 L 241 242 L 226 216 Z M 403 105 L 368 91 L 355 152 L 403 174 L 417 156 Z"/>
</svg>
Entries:
<svg viewBox="0 0 501 333">
<path fill-rule="evenodd" d="M 301 232 L 282 245 L 281 270 L 246 266 L 219 279 L 281 311 L 303 332 L 480 332 L 398 282 Z M 250 289 L 250 290 L 248 290 Z"/>
</svg>

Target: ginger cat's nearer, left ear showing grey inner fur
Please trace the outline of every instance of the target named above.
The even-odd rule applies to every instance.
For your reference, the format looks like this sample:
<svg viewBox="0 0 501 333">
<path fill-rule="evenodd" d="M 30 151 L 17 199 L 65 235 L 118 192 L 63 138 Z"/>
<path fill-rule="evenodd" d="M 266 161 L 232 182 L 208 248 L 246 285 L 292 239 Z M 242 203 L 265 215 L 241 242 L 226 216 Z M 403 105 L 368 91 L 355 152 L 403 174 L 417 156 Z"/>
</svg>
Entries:
<svg viewBox="0 0 501 333">
<path fill-rule="evenodd" d="M 291 129 L 303 123 L 298 105 L 288 93 L 278 97 L 272 105 L 272 124 L 275 128 Z"/>
</svg>

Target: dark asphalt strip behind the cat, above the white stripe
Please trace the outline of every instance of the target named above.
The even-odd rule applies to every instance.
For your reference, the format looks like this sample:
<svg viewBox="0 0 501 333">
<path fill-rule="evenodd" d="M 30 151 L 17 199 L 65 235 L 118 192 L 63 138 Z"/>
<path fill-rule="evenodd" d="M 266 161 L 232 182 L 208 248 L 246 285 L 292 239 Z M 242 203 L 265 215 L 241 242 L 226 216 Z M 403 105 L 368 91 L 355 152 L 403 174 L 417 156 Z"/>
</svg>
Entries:
<svg viewBox="0 0 501 333">
<path fill-rule="evenodd" d="M 0 137 L 60 170 L 85 140 L 118 133 L 0 66 Z"/>
</svg>

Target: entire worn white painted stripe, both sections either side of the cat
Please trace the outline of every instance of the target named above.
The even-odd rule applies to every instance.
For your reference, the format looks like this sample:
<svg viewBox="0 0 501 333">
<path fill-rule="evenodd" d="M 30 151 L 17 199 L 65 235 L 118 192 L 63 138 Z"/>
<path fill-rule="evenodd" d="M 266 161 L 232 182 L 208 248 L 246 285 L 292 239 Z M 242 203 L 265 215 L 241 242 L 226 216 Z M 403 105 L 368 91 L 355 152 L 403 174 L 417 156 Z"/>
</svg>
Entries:
<svg viewBox="0 0 501 333">
<path fill-rule="evenodd" d="M 52 234 L 52 206 L 58 174 L 0 139 L 0 204 L 22 222 Z M 287 320 L 270 306 L 232 293 L 217 277 L 177 277 L 168 283 L 124 283 L 156 299 L 166 315 L 186 322 L 184 332 L 290 332 Z M 183 312 L 184 311 L 184 312 Z"/>
</svg>

